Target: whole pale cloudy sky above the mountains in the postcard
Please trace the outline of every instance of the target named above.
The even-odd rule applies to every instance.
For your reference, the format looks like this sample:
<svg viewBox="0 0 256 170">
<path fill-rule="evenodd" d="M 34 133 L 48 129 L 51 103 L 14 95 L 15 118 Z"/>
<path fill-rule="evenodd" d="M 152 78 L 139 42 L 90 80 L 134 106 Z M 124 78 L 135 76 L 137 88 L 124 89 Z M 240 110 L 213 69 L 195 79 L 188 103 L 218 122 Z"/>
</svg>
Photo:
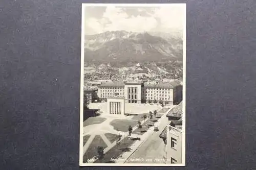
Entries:
<svg viewBox="0 0 256 170">
<path fill-rule="evenodd" d="M 117 30 L 182 32 L 185 6 L 87 6 L 85 8 L 85 19 L 85 33 L 89 35 Z"/>
</svg>

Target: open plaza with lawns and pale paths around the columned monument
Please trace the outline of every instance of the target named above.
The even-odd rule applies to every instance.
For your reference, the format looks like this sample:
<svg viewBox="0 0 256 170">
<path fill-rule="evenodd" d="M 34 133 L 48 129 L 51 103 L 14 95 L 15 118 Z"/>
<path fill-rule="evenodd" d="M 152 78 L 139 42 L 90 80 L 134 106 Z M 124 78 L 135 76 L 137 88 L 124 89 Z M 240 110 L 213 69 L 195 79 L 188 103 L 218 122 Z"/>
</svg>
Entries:
<svg viewBox="0 0 256 170">
<path fill-rule="evenodd" d="M 121 146 L 132 150 L 138 148 L 138 144 L 147 138 L 148 133 L 154 126 L 149 118 L 150 111 L 157 110 L 156 120 L 164 115 L 169 108 L 163 109 L 160 105 L 125 103 L 123 116 L 110 114 L 108 106 L 111 100 L 106 103 L 90 103 L 90 109 L 99 109 L 100 114 L 97 117 L 90 117 L 83 123 L 83 162 L 97 162 L 97 148 L 103 147 L 104 161 L 111 161 L 110 158 L 118 158 L 120 154 L 126 153 L 120 150 L 117 144 L 117 136 L 120 135 Z M 143 116 L 146 115 L 146 118 Z M 142 124 L 142 129 L 138 130 L 138 120 Z M 129 126 L 133 128 L 129 135 Z M 141 141 L 136 139 L 140 138 Z M 137 144 L 136 144 L 137 143 Z M 104 162 L 102 162 L 104 163 Z"/>
</svg>

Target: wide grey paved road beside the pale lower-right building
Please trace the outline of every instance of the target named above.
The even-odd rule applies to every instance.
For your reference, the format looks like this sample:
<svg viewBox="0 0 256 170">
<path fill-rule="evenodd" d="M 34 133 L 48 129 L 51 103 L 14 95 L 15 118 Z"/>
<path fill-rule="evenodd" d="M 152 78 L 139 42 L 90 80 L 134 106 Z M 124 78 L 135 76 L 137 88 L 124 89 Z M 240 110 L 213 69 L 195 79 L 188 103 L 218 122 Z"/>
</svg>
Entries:
<svg viewBox="0 0 256 170">
<path fill-rule="evenodd" d="M 168 118 L 164 115 L 158 123 L 159 131 L 152 132 L 152 134 L 125 161 L 125 163 L 164 163 L 165 147 L 163 139 L 161 139 L 159 135 L 166 127 Z"/>
</svg>

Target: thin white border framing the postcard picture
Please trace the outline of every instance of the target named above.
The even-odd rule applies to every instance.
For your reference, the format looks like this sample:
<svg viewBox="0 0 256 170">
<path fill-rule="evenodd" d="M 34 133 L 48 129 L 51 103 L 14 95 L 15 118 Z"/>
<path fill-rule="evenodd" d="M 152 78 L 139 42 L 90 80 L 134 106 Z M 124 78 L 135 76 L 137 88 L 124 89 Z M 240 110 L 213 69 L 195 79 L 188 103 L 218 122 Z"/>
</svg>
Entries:
<svg viewBox="0 0 256 170">
<path fill-rule="evenodd" d="M 81 8 L 81 79 L 80 79 L 80 135 L 79 135 L 79 166 L 185 166 L 185 138 L 186 138 L 186 15 L 184 16 L 183 27 L 183 84 L 182 84 L 182 162 L 181 164 L 154 164 L 154 163 L 83 163 L 83 75 L 84 75 L 84 33 L 85 33 L 85 8 L 87 6 L 106 7 L 106 6 L 124 6 L 124 7 L 160 7 L 160 6 L 184 6 L 186 14 L 186 4 L 82 4 Z"/>
</svg>

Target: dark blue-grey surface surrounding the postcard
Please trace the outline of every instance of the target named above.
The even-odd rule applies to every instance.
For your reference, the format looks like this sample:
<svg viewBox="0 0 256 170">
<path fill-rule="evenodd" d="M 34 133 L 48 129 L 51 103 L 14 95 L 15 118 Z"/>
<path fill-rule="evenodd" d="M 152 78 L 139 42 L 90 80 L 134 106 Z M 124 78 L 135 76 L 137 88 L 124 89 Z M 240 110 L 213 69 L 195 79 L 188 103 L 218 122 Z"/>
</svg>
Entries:
<svg viewBox="0 0 256 170">
<path fill-rule="evenodd" d="M 81 3 L 0 2 L 0 169 L 80 168 Z M 255 169 L 255 4 L 187 1 L 186 167 L 134 169 Z"/>
</svg>

